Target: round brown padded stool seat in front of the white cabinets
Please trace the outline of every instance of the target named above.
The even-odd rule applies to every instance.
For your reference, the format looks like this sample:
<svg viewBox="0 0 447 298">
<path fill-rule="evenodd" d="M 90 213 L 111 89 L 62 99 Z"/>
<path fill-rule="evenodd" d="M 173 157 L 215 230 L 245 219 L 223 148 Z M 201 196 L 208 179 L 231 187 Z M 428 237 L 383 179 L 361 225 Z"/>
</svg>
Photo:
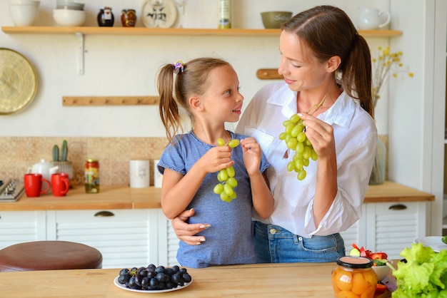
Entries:
<svg viewBox="0 0 447 298">
<path fill-rule="evenodd" d="M 0 250 L 0 272 L 102 268 L 99 250 L 67 241 L 33 241 Z"/>
</svg>

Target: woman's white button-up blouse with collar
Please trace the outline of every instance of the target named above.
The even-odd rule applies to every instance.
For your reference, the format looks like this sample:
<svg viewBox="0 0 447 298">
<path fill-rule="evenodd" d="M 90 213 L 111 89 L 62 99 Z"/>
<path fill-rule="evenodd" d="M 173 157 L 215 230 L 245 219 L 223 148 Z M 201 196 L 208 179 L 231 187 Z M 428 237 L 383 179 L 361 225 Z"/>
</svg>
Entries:
<svg viewBox="0 0 447 298">
<path fill-rule="evenodd" d="M 255 220 L 279 225 L 302 237 L 343 232 L 361 217 L 361 205 L 368 188 L 374 156 L 377 129 L 373 118 L 345 92 L 318 118 L 332 125 L 337 154 L 338 192 L 320 225 L 313 222 L 313 195 L 316 187 L 317 161 L 310 160 L 306 178 L 299 181 L 287 163 L 294 152 L 278 135 L 282 125 L 296 111 L 296 92 L 286 83 L 264 86 L 256 93 L 236 128 L 237 133 L 251 135 L 261 145 L 272 167 L 267 170 L 275 209 L 268 220 Z M 288 158 L 284 153 L 288 150 Z"/>
</svg>

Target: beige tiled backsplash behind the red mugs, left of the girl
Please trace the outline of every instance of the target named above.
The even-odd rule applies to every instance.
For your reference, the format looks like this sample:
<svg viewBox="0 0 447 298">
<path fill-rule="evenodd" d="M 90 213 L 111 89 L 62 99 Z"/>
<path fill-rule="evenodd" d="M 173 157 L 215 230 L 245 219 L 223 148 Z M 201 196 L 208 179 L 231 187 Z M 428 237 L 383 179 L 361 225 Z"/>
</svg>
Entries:
<svg viewBox="0 0 447 298">
<path fill-rule="evenodd" d="M 74 185 L 84 183 L 86 158 L 97 158 L 101 185 L 129 185 L 129 160 L 150 160 L 151 185 L 154 185 L 154 160 L 159 159 L 166 138 L 54 138 L 1 137 L 0 180 L 21 180 L 28 168 L 42 158 L 52 161 L 53 146 L 67 140 L 68 160 L 73 165 Z"/>
</svg>

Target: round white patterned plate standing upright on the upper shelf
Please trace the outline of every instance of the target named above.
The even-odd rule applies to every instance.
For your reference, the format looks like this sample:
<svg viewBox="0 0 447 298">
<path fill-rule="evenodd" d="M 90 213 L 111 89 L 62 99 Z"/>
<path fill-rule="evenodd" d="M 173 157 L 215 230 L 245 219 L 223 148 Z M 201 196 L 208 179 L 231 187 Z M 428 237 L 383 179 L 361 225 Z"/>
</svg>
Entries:
<svg viewBox="0 0 447 298">
<path fill-rule="evenodd" d="M 162 4 L 159 11 L 154 5 L 157 2 Z M 147 0 L 143 4 L 143 9 L 141 9 L 141 20 L 144 26 L 149 28 L 170 28 L 175 24 L 176 19 L 176 4 L 171 0 Z"/>
</svg>

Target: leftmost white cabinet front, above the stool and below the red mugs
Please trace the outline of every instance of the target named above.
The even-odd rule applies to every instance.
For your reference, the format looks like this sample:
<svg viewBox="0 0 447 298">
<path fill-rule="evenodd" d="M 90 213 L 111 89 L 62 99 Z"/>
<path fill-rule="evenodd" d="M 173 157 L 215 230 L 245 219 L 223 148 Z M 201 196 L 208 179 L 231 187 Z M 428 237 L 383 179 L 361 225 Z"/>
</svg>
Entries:
<svg viewBox="0 0 447 298">
<path fill-rule="evenodd" d="M 45 211 L 0 211 L 0 250 L 46 239 Z"/>
</svg>

